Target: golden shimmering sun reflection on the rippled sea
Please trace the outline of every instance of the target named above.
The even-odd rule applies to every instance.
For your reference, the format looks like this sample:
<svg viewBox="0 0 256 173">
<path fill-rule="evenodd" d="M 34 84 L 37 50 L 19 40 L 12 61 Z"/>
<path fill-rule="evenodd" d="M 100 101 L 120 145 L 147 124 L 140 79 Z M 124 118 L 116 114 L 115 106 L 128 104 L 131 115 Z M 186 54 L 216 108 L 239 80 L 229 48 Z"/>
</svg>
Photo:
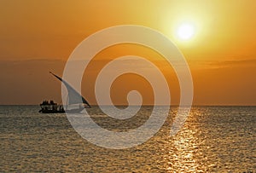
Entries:
<svg viewBox="0 0 256 173">
<path fill-rule="evenodd" d="M 170 172 L 195 172 L 203 170 L 201 164 L 204 162 L 204 157 L 200 152 L 200 147 L 204 141 L 200 140 L 200 124 L 195 122 L 198 116 L 201 116 L 201 110 L 194 108 L 190 112 L 183 130 L 166 142 L 169 150 L 165 156 L 167 162 L 166 170 Z"/>
</svg>

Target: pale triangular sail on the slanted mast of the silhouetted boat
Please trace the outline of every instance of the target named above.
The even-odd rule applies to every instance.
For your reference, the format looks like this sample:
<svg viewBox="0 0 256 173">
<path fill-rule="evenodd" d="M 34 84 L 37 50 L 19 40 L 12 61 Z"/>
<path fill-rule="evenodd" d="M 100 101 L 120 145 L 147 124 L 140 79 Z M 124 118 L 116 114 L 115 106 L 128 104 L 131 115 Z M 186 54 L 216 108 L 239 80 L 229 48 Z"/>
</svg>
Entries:
<svg viewBox="0 0 256 173">
<path fill-rule="evenodd" d="M 88 105 L 88 107 L 90 107 L 90 104 L 88 103 L 88 101 L 86 101 L 84 99 L 84 97 L 82 95 L 79 94 L 78 91 L 76 91 L 75 89 L 73 89 L 72 86 L 70 86 L 70 84 L 68 84 L 65 80 L 63 80 L 62 78 L 58 77 L 57 75 L 55 75 L 52 72 L 49 72 L 52 75 L 55 76 L 55 78 L 58 78 L 63 84 L 65 84 L 66 88 L 67 88 L 67 92 L 68 92 L 68 105 L 72 105 L 72 104 L 79 104 L 81 103 L 81 101 L 83 101 L 84 104 Z"/>
</svg>

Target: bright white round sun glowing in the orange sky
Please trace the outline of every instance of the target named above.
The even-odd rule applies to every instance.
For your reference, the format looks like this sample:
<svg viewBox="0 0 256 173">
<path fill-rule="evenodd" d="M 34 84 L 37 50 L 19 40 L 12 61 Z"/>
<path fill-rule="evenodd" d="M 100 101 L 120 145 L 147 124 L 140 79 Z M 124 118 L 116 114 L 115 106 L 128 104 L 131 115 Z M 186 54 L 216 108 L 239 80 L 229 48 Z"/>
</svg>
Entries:
<svg viewBox="0 0 256 173">
<path fill-rule="evenodd" d="M 185 23 L 177 28 L 177 37 L 182 40 L 189 40 L 195 35 L 195 26 Z"/>
</svg>

